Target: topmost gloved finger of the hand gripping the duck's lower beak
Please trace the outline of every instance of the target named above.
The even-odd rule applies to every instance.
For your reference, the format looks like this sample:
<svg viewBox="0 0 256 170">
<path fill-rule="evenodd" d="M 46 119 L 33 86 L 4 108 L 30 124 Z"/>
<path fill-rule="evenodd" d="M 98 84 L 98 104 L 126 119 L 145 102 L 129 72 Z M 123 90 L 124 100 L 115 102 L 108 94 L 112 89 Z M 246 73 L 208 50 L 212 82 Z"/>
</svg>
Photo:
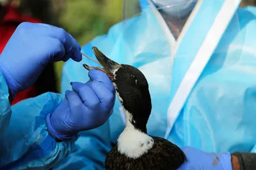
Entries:
<svg viewBox="0 0 256 170">
<path fill-rule="evenodd" d="M 105 85 L 111 92 L 115 92 L 115 87 L 106 73 L 97 69 L 92 69 L 88 72 L 88 75 L 92 81 L 99 81 Z"/>
</svg>

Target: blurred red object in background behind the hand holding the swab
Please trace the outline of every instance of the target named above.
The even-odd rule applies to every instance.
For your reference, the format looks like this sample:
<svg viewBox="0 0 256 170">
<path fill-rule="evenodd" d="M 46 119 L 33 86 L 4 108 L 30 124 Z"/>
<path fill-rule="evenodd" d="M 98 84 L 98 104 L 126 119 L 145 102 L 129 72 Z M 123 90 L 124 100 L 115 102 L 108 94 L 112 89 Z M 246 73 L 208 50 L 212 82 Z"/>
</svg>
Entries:
<svg viewBox="0 0 256 170">
<path fill-rule="evenodd" d="M 3 20 L 0 22 L 0 53 L 3 52 L 4 46 L 20 23 L 41 23 L 40 20 L 37 20 L 36 18 L 20 15 L 20 13 L 15 8 L 13 8 L 13 6 L 5 6 L 5 8 L 6 13 L 3 17 Z M 33 85 L 29 89 L 16 94 L 11 106 L 15 103 L 18 103 L 19 101 L 35 96 L 38 96 L 38 93 L 36 91 L 36 86 Z"/>
</svg>

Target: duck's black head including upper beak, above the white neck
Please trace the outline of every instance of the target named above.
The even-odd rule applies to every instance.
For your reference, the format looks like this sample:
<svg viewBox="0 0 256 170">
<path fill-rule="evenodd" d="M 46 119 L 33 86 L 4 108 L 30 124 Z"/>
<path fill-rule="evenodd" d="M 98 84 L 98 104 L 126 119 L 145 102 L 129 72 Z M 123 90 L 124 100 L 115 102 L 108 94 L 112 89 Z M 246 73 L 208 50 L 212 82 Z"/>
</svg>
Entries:
<svg viewBox="0 0 256 170">
<path fill-rule="evenodd" d="M 111 76 L 116 94 L 125 113 L 130 113 L 129 121 L 135 128 L 147 133 L 146 125 L 152 109 L 148 82 L 144 74 L 136 67 L 118 64 L 109 59 L 96 47 L 95 57 Z"/>
</svg>

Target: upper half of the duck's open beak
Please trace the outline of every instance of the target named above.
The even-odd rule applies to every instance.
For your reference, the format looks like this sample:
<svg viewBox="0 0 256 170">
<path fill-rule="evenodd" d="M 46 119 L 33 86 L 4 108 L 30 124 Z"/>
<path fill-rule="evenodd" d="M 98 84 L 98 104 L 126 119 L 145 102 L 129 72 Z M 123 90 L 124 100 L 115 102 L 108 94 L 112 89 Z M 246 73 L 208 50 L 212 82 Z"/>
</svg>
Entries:
<svg viewBox="0 0 256 170">
<path fill-rule="evenodd" d="M 94 52 L 96 59 L 111 76 L 113 76 L 113 72 L 116 69 L 118 69 L 119 67 L 122 67 L 121 64 L 118 64 L 117 62 L 106 57 L 106 55 L 100 52 L 100 50 L 97 47 L 93 46 L 92 50 Z"/>
</svg>

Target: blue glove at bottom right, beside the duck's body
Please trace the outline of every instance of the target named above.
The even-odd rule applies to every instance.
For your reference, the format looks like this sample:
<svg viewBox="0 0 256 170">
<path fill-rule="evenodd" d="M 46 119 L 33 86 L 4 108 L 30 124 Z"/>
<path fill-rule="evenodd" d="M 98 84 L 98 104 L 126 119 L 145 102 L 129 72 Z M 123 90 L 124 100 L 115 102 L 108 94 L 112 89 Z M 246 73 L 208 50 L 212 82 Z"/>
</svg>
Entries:
<svg viewBox="0 0 256 170">
<path fill-rule="evenodd" d="M 179 170 L 232 170 L 230 153 L 207 153 L 191 147 L 183 147 L 180 149 L 185 153 L 187 162 L 180 166 Z"/>
</svg>

